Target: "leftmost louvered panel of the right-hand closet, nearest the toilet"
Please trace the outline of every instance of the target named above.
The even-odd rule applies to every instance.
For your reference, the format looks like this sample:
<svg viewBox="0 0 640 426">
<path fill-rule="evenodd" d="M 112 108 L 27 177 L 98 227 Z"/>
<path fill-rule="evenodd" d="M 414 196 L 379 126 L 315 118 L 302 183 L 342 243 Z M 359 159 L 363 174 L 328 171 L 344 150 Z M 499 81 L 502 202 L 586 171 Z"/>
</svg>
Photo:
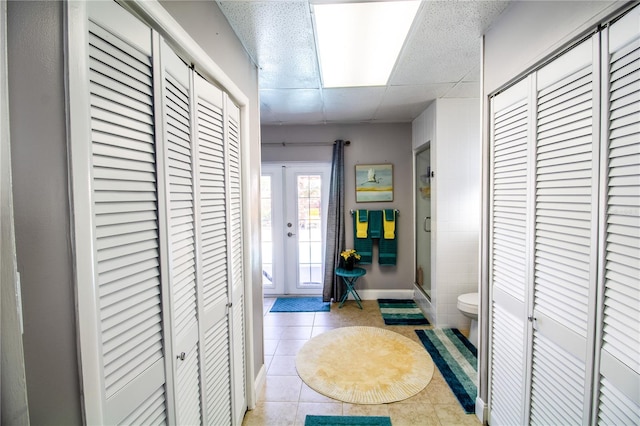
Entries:
<svg viewBox="0 0 640 426">
<path fill-rule="evenodd" d="M 492 425 L 525 423 L 530 79 L 491 103 Z"/>
</svg>

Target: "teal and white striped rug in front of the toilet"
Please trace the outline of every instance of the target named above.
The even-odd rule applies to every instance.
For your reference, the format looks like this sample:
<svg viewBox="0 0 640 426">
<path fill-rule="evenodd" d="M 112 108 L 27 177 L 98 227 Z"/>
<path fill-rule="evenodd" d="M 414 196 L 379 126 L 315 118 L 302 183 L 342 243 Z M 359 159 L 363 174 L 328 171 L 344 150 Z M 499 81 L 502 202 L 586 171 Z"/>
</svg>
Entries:
<svg viewBox="0 0 640 426">
<path fill-rule="evenodd" d="M 416 330 L 465 413 L 476 411 L 478 352 L 456 328 Z"/>
</svg>

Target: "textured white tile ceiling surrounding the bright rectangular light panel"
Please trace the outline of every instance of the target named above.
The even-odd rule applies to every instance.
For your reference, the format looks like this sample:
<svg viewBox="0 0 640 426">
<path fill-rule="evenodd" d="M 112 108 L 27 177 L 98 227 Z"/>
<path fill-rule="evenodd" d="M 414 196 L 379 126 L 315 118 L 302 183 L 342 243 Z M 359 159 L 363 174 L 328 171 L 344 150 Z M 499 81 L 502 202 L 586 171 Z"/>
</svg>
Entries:
<svg viewBox="0 0 640 426">
<path fill-rule="evenodd" d="M 319 124 L 409 122 L 436 98 L 478 97 L 480 36 L 509 2 L 422 1 L 386 86 L 332 89 L 308 0 L 218 4 L 260 68 L 261 123 Z"/>
</svg>

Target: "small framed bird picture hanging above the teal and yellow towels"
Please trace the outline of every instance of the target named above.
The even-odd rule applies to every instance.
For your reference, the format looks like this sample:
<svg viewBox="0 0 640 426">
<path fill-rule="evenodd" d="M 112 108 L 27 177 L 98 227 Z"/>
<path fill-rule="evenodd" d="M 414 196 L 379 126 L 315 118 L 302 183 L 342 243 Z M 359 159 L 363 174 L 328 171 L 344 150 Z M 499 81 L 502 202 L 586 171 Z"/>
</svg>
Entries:
<svg viewBox="0 0 640 426">
<path fill-rule="evenodd" d="M 393 164 L 356 164 L 356 202 L 393 201 Z"/>
</svg>

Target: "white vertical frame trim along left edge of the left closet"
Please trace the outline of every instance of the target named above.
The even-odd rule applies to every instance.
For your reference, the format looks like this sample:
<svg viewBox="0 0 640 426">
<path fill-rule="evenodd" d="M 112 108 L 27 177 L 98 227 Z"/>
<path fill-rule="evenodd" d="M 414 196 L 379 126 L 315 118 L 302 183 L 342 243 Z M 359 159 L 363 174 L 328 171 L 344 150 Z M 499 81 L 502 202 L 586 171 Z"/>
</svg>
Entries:
<svg viewBox="0 0 640 426">
<path fill-rule="evenodd" d="M 94 269 L 91 140 L 89 123 L 89 87 L 87 75 L 87 6 L 84 2 L 67 2 L 65 40 L 65 74 L 71 241 L 74 260 L 76 324 L 78 327 L 78 363 L 82 389 L 83 422 L 98 424 L 104 419 L 102 362 L 99 348 L 99 310 L 97 289 L 80 283 L 96 282 Z M 73 83 L 72 83 L 73 82 Z M 73 118 L 73 119 L 72 119 Z"/>
</svg>

